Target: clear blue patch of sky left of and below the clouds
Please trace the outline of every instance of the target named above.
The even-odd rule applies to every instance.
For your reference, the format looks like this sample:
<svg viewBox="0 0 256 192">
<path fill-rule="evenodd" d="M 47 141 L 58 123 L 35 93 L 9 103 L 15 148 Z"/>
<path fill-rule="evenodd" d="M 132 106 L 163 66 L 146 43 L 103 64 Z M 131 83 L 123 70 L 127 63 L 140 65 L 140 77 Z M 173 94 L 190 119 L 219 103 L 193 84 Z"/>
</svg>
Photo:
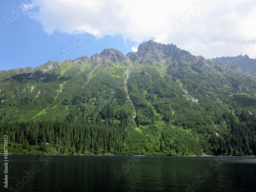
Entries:
<svg viewBox="0 0 256 192">
<path fill-rule="evenodd" d="M 115 48 L 127 54 L 136 45 L 130 40 L 124 42 L 121 35 L 106 35 L 97 39 L 89 33 L 68 34 L 56 31 L 48 34 L 38 20 L 30 18 L 26 13 L 14 17 L 14 22 L 6 19 L 8 26 L 4 17 L 12 19 L 12 9 L 16 11 L 20 5 L 17 2 L 3 0 L 0 3 L 0 70 L 37 67 L 48 60 L 62 61 L 83 55 L 91 56 L 104 48 Z"/>
</svg>

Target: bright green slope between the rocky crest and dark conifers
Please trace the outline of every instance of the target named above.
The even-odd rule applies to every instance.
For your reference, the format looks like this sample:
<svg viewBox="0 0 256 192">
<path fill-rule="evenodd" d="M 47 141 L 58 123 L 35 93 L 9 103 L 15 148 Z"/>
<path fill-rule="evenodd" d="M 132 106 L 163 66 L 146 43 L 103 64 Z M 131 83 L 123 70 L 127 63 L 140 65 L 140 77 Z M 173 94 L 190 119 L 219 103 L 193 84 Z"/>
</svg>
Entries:
<svg viewBox="0 0 256 192">
<path fill-rule="evenodd" d="M 128 114 L 124 154 L 199 155 L 210 154 L 207 141 L 211 134 L 227 132 L 225 123 L 215 123 L 222 113 L 236 108 L 256 113 L 254 88 L 252 93 L 244 93 L 235 86 L 223 86 L 225 78 L 231 78 L 229 74 L 209 76 L 186 71 L 187 76 L 178 79 L 166 74 L 166 68 L 164 63 L 132 68 L 127 88 L 133 103 L 124 89 L 127 67 L 113 63 L 94 66 L 61 62 L 46 73 L 34 72 L 33 78 L 31 69 L 18 75 L 8 71 L 2 75 L 0 99 L 4 102 L 0 116 L 19 121 L 65 119 L 84 110 L 85 116 L 97 121 L 104 109 L 112 106 L 111 118 L 116 122 L 120 120 L 119 109 Z M 245 77 L 238 80 L 251 86 Z M 84 102 L 77 104 L 75 99 Z M 138 128 L 132 119 L 134 108 Z M 34 151 L 32 147 L 30 152 Z"/>
</svg>

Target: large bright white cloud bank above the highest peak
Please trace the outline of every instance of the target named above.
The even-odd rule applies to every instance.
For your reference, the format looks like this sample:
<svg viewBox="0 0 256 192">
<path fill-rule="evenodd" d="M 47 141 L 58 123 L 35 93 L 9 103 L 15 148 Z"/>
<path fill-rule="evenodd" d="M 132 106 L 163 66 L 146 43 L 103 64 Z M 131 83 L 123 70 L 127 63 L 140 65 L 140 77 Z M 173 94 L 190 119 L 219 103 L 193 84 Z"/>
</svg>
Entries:
<svg viewBox="0 0 256 192">
<path fill-rule="evenodd" d="M 237 53 L 250 40 L 246 54 L 256 57 L 254 0 L 34 0 L 27 7 L 49 34 L 155 39 L 206 58 Z"/>
</svg>

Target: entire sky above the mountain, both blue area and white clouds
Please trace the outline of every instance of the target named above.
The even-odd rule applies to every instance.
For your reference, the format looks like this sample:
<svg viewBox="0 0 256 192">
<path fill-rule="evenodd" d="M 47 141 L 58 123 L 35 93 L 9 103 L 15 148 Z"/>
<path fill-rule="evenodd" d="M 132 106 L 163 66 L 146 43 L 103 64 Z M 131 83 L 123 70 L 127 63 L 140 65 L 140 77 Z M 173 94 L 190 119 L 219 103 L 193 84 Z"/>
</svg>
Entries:
<svg viewBox="0 0 256 192">
<path fill-rule="evenodd" d="M 0 70 L 123 54 L 153 39 L 205 58 L 256 57 L 254 0 L 2 0 Z"/>
</svg>

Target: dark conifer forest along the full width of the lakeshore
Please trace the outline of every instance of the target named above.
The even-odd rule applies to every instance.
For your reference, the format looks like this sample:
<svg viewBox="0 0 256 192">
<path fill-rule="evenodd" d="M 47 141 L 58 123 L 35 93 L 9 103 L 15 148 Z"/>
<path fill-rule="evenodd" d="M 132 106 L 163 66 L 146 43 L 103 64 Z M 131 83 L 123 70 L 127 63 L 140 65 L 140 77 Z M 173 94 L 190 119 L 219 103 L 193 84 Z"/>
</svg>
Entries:
<svg viewBox="0 0 256 192">
<path fill-rule="evenodd" d="M 227 122 L 223 136 L 211 134 L 208 142 L 201 145 L 191 138 L 172 130 L 163 132 L 159 146 L 147 145 L 137 148 L 136 143 L 127 146 L 127 126 L 110 119 L 101 123 L 84 120 L 46 120 L 27 122 L 1 122 L 0 142 L 9 136 L 10 151 L 17 154 L 58 155 L 256 155 L 256 119 L 242 111 L 238 116 L 225 113 L 217 122 Z M 126 143 L 125 143 L 126 142 Z M 141 153 L 143 152 L 143 153 Z"/>
</svg>

